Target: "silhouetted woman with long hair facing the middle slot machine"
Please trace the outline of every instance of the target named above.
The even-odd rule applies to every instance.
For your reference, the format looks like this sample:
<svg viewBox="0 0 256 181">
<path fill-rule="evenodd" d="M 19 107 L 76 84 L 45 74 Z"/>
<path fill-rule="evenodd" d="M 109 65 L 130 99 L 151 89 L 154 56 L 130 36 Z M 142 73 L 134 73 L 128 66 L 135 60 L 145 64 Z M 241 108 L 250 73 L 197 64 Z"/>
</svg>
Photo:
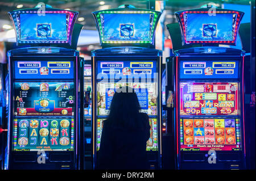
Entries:
<svg viewBox="0 0 256 181">
<path fill-rule="evenodd" d="M 148 115 L 140 113 L 140 109 L 134 89 L 116 90 L 104 121 L 96 169 L 148 169 L 146 142 L 150 124 Z"/>
</svg>

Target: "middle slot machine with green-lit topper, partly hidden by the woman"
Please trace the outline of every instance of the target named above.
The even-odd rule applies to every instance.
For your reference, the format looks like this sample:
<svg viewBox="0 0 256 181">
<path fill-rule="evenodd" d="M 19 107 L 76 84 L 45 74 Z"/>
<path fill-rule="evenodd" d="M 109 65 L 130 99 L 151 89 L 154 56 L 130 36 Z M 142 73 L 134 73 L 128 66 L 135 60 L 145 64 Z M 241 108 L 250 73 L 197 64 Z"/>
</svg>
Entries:
<svg viewBox="0 0 256 181">
<path fill-rule="evenodd" d="M 92 51 L 93 168 L 100 149 L 102 121 L 108 116 L 115 89 L 121 86 L 135 89 L 141 111 L 150 117 L 148 165 L 160 168 L 162 52 L 154 48 L 160 14 L 131 5 L 93 12 L 102 45 L 102 49 Z"/>
</svg>

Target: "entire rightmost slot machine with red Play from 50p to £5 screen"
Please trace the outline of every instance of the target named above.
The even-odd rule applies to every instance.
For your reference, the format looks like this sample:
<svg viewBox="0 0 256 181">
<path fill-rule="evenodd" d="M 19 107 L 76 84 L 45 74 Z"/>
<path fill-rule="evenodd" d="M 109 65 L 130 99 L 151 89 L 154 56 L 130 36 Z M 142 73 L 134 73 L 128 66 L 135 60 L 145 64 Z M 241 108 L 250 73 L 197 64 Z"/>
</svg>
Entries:
<svg viewBox="0 0 256 181">
<path fill-rule="evenodd" d="M 175 13 L 184 47 L 167 58 L 167 76 L 174 79 L 177 169 L 245 169 L 245 54 L 229 47 L 243 14 L 209 7 Z"/>
</svg>

